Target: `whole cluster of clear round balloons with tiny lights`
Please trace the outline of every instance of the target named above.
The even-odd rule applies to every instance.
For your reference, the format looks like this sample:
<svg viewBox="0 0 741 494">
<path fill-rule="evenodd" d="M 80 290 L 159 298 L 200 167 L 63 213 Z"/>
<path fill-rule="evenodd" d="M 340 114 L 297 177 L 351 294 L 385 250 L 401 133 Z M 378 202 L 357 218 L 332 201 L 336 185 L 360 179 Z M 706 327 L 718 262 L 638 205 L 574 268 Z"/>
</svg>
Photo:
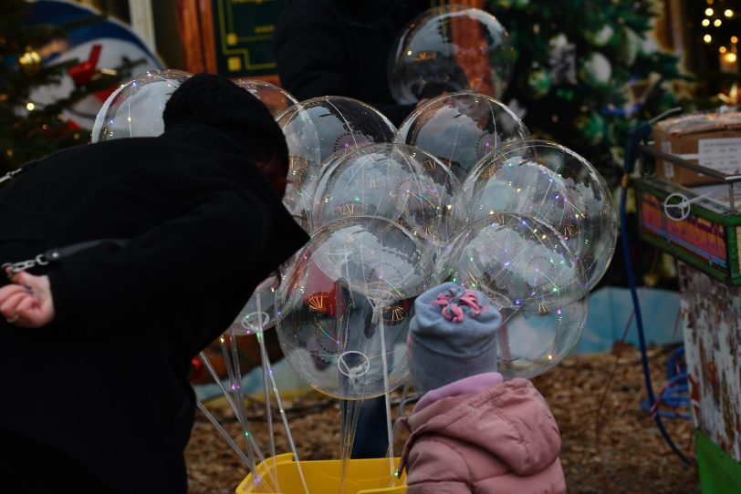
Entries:
<svg viewBox="0 0 741 494">
<path fill-rule="evenodd" d="M 506 378 L 557 365 L 579 340 L 590 289 L 617 237 L 600 174 L 570 149 L 531 140 L 495 98 L 512 57 L 496 19 L 449 7 L 415 22 L 391 60 L 392 92 L 417 101 L 441 83 L 433 74 L 450 80 L 399 129 L 352 98 L 297 102 L 268 83 L 238 81 L 286 135 L 284 203 L 311 240 L 228 329 L 277 325 L 297 373 L 344 399 L 381 396 L 404 382 L 414 298 L 445 281 L 484 292 L 503 314 L 497 358 Z M 440 64 L 457 69 L 441 72 Z M 160 122 L 144 116 L 183 77 L 150 73 L 121 87 L 101 109 L 93 139 L 159 133 Z"/>
</svg>

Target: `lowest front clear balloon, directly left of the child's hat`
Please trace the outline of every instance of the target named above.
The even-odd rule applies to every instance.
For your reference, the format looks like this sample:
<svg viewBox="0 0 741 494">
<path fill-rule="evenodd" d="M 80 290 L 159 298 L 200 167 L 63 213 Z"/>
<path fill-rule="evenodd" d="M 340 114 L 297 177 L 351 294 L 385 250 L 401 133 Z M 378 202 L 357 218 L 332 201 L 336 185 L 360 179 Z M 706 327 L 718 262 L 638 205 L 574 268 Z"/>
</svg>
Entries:
<svg viewBox="0 0 741 494">
<path fill-rule="evenodd" d="M 277 293 L 288 363 L 330 396 L 381 396 L 408 376 L 412 298 L 433 286 L 423 243 L 381 218 L 314 232 Z"/>
</svg>

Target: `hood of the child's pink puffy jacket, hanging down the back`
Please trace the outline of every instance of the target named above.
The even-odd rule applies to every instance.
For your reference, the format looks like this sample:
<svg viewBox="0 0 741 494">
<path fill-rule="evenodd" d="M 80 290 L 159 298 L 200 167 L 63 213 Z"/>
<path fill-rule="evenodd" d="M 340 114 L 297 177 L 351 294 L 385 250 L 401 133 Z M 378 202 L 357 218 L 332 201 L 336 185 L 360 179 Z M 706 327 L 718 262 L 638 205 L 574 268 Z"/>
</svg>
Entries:
<svg viewBox="0 0 741 494">
<path fill-rule="evenodd" d="M 533 475 L 558 458 L 561 439 L 543 396 L 527 379 L 491 386 L 474 396 L 443 398 L 406 419 L 414 440 L 423 434 L 455 438 L 496 456 L 517 475 Z"/>
</svg>

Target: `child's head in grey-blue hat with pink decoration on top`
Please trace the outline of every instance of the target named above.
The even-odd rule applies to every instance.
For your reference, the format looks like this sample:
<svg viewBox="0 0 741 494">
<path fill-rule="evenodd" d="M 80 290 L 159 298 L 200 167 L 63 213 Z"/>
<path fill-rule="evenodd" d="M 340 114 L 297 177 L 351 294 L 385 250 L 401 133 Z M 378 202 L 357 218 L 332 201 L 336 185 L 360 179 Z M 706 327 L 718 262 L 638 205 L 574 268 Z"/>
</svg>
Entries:
<svg viewBox="0 0 741 494">
<path fill-rule="evenodd" d="M 410 368 L 420 394 L 459 379 L 496 372 L 502 316 L 483 293 L 443 283 L 417 297 L 409 326 Z"/>
</svg>

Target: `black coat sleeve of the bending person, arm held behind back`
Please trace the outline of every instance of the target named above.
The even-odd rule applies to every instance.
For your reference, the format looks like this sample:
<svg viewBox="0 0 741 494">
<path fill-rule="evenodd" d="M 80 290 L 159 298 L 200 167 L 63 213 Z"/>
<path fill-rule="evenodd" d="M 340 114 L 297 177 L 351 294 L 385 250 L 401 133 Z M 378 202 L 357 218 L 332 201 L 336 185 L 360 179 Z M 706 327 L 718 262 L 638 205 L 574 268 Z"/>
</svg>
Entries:
<svg viewBox="0 0 741 494">
<path fill-rule="evenodd" d="M 271 218 L 265 201 L 215 190 L 123 246 L 103 242 L 77 252 L 49 271 L 55 324 L 93 334 L 135 328 L 153 311 L 197 306 L 260 262 Z"/>
</svg>

